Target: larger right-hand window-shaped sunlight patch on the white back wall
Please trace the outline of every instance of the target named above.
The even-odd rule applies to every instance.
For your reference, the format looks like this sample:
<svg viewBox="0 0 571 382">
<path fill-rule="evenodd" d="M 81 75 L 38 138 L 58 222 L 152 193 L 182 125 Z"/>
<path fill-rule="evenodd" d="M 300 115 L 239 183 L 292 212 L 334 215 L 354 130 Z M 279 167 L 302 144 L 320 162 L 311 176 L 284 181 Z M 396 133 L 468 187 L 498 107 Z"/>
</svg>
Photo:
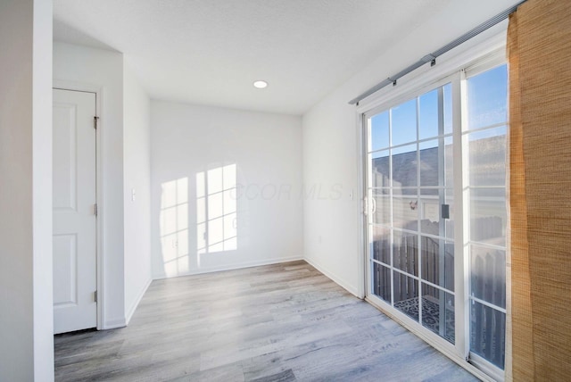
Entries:
<svg viewBox="0 0 571 382">
<path fill-rule="evenodd" d="M 238 247 L 236 164 L 196 174 L 196 250 L 233 251 Z"/>
</svg>

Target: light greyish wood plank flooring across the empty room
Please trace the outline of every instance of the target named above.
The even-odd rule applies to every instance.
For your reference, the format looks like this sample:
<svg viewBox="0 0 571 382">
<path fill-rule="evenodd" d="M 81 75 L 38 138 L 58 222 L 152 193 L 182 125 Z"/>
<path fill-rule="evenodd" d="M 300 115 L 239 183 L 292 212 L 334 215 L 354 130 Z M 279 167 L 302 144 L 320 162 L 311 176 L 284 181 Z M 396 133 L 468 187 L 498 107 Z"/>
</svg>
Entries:
<svg viewBox="0 0 571 382">
<path fill-rule="evenodd" d="M 306 262 L 153 281 L 127 328 L 55 336 L 56 381 L 473 381 Z"/>
</svg>

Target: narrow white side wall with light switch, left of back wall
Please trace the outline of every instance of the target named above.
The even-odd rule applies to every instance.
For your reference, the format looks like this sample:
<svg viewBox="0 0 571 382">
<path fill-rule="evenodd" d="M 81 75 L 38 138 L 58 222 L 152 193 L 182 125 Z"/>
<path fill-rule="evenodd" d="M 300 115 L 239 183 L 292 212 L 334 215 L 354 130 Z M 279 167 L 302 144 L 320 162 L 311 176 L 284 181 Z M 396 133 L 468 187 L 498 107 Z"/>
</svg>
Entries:
<svg viewBox="0 0 571 382">
<path fill-rule="evenodd" d="M 123 68 L 125 312 L 128 322 L 152 280 L 151 104 L 127 62 Z"/>
</svg>

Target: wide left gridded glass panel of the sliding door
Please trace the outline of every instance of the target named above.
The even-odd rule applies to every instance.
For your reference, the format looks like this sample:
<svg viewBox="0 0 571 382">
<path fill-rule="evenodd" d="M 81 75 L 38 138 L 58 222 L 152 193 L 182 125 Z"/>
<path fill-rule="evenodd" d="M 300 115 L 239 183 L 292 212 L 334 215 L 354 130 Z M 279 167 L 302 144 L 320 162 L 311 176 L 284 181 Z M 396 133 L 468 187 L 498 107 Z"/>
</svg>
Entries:
<svg viewBox="0 0 571 382">
<path fill-rule="evenodd" d="M 368 118 L 371 293 L 454 338 L 451 85 Z"/>
</svg>

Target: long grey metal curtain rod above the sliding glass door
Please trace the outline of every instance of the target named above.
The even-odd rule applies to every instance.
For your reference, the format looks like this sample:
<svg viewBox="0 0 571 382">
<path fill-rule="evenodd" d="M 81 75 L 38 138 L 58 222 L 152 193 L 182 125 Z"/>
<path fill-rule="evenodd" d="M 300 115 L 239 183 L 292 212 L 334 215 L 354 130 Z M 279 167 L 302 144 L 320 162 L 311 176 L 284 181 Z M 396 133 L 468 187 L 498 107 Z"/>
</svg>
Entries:
<svg viewBox="0 0 571 382">
<path fill-rule="evenodd" d="M 408 68 L 406 68 L 402 71 L 399 71 L 398 73 L 394 74 L 393 76 L 389 77 L 388 79 L 385 79 L 382 82 L 375 85 L 374 87 L 371 87 L 365 93 L 353 98 L 351 101 L 349 101 L 349 104 L 359 104 L 360 100 L 368 97 L 368 95 L 372 95 L 377 90 L 380 90 L 383 87 L 386 87 L 387 85 L 390 85 L 390 84 L 396 85 L 397 79 L 400 79 L 402 76 L 409 74 L 411 71 L 414 71 L 414 70 L 420 68 L 426 62 L 430 62 L 430 65 L 434 66 L 436 64 L 436 57 L 438 57 L 442 54 L 445 54 L 446 52 L 450 51 L 451 49 L 455 48 L 456 46 L 459 46 L 460 44 L 465 43 L 470 38 L 475 37 L 476 35 L 479 35 L 480 33 L 484 32 L 484 30 L 490 29 L 494 25 L 500 23 L 501 21 L 506 20 L 508 18 L 509 14 L 517 11 L 517 7 L 521 4 L 524 4 L 525 1 L 526 0 L 508 8 L 507 10 L 505 10 L 501 13 L 496 14 L 495 16 L 492 17 L 492 19 L 490 19 L 488 21 L 484 21 L 482 24 L 478 25 L 476 28 L 471 29 L 467 33 L 456 38 L 454 41 L 451 41 L 450 43 L 448 43 L 445 46 L 441 47 L 440 49 L 434 51 L 433 53 L 426 54 L 424 57 L 422 57 L 420 60 L 418 60 L 418 62 L 413 63 Z"/>
</svg>

